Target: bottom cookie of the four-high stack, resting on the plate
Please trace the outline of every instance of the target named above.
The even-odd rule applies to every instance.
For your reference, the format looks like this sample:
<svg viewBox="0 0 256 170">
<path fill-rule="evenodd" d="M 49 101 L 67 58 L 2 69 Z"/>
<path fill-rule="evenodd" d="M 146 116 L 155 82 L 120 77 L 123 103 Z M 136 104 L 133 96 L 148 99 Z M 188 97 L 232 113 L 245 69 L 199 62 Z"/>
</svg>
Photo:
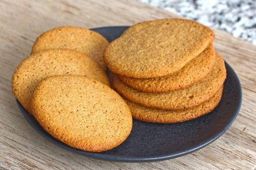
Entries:
<svg viewBox="0 0 256 170">
<path fill-rule="evenodd" d="M 176 111 L 145 107 L 127 99 L 124 99 L 124 101 L 128 104 L 134 119 L 148 123 L 170 124 L 192 120 L 213 111 L 220 102 L 222 91 L 223 86 L 205 103 L 185 110 Z"/>
</svg>

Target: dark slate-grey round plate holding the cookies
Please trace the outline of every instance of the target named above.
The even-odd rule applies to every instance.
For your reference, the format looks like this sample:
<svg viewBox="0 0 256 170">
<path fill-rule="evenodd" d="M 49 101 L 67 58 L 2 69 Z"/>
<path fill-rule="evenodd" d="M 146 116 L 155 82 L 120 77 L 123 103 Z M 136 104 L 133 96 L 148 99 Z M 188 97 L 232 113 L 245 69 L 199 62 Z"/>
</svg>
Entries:
<svg viewBox="0 0 256 170">
<path fill-rule="evenodd" d="M 110 42 L 119 37 L 128 26 L 111 26 L 92 29 L 101 33 Z M 224 134 L 240 110 L 242 92 L 239 79 L 227 64 L 227 79 L 220 104 L 211 113 L 195 120 L 177 124 L 149 124 L 133 120 L 133 130 L 122 145 L 103 153 L 84 152 L 69 147 L 51 137 L 18 103 L 25 119 L 44 138 L 68 151 L 90 158 L 121 161 L 149 162 L 180 157 L 207 146 Z"/>
</svg>

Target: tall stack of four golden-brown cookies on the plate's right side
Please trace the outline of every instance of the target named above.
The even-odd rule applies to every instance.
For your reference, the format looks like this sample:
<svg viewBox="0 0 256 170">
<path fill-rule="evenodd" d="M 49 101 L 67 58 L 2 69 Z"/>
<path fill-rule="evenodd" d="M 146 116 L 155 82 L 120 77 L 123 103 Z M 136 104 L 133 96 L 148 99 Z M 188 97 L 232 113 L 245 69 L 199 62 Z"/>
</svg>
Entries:
<svg viewBox="0 0 256 170">
<path fill-rule="evenodd" d="M 197 22 L 159 19 L 135 24 L 111 42 L 104 61 L 133 118 L 178 123 L 211 112 L 226 78 L 213 40 L 212 30 Z"/>
</svg>

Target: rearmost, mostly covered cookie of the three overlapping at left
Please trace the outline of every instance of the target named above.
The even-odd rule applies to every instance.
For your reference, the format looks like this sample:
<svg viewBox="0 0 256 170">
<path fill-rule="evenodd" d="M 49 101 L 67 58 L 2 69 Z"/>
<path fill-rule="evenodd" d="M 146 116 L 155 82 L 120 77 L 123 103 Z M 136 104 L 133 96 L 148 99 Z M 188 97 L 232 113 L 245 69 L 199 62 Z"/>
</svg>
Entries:
<svg viewBox="0 0 256 170">
<path fill-rule="evenodd" d="M 108 44 L 108 40 L 95 31 L 74 26 L 62 26 L 39 36 L 31 53 L 49 49 L 76 50 L 93 58 L 106 70 L 103 53 Z"/>
</svg>

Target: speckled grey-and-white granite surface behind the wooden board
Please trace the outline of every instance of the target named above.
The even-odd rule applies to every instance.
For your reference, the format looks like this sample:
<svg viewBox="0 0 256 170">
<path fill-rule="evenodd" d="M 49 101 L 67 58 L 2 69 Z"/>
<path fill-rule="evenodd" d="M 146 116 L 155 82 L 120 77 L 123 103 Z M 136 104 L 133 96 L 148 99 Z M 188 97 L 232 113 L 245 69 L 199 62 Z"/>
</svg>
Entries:
<svg viewBox="0 0 256 170">
<path fill-rule="evenodd" d="M 256 45 L 256 0 L 139 0 Z"/>
</svg>

